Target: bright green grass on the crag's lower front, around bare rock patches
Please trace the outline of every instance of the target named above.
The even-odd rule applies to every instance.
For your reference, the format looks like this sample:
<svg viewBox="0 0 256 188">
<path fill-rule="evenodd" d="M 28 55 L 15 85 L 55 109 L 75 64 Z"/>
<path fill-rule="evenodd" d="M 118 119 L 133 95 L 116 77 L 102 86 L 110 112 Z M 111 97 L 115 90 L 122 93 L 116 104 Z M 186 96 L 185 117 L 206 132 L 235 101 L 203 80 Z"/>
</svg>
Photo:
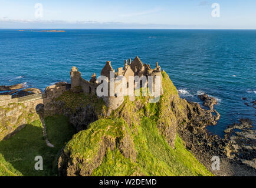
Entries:
<svg viewBox="0 0 256 188">
<path fill-rule="evenodd" d="M 127 134 L 132 136 L 137 151 L 136 162 L 124 157 L 118 147 L 118 140 Z M 149 117 L 142 118 L 134 133 L 122 118 L 97 120 L 87 130 L 77 133 L 64 150 L 70 152 L 73 161 L 78 162 L 78 168 L 83 168 L 81 162 L 94 162 L 103 136 L 116 140 L 116 147 L 112 151 L 107 149 L 103 161 L 93 170 L 92 176 L 212 176 L 185 149 L 178 135 L 175 149 L 172 149 Z"/>
</svg>

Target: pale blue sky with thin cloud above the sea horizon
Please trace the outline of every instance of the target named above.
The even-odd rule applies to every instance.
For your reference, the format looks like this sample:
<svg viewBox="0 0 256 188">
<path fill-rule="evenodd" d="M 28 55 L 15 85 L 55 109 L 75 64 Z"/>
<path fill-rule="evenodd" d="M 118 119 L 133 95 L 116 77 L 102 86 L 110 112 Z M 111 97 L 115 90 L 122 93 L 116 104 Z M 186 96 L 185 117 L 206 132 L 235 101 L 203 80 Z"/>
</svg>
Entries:
<svg viewBox="0 0 256 188">
<path fill-rule="evenodd" d="M 256 0 L 0 0 L 7 28 L 256 29 Z"/>
</svg>

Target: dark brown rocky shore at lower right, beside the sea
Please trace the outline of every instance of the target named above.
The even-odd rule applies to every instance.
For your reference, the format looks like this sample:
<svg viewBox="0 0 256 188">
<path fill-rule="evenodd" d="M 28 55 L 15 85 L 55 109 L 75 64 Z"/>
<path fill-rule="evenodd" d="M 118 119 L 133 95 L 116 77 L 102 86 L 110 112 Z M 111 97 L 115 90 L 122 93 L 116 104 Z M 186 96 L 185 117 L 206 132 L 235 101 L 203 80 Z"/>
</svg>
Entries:
<svg viewBox="0 0 256 188">
<path fill-rule="evenodd" d="M 199 162 L 218 176 L 256 176 L 256 131 L 252 129 L 251 120 L 240 119 L 239 123 L 229 125 L 224 130 L 224 138 L 212 135 L 205 127 L 216 125 L 216 120 L 220 117 L 214 110 L 217 101 L 205 93 L 198 97 L 210 110 L 202 109 L 198 103 L 190 103 L 196 109 L 192 112 L 191 123 L 178 127 L 178 133 L 186 147 Z M 216 115 L 209 112 L 215 112 Z M 220 170 L 212 170 L 212 156 L 220 158 Z"/>
</svg>

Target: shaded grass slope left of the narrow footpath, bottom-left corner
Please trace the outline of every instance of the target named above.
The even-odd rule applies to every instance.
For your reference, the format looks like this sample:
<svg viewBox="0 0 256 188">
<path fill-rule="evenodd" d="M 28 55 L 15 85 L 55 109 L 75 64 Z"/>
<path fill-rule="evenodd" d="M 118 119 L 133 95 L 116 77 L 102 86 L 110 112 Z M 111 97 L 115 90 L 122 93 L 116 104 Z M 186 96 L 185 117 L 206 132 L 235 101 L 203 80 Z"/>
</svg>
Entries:
<svg viewBox="0 0 256 188">
<path fill-rule="evenodd" d="M 26 125 L 15 136 L 0 142 L 0 153 L 6 162 L 12 164 L 24 176 L 52 176 L 55 173 L 52 172 L 51 162 L 58 151 L 45 144 L 40 122 L 33 124 Z M 35 170 L 36 156 L 42 156 L 43 170 Z"/>
</svg>

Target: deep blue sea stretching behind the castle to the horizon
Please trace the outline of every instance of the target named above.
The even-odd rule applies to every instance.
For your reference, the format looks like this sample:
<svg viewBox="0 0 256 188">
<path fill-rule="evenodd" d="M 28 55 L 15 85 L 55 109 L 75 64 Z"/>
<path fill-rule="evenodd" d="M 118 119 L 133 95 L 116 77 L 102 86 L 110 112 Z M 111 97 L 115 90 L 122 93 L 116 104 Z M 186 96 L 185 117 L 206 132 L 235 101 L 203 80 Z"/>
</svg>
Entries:
<svg viewBox="0 0 256 188">
<path fill-rule="evenodd" d="M 65 31 L 0 30 L 0 85 L 44 89 L 70 82 L 72 66 L 90 79 L 106 61 L 117 69 L 139 56 L 152 68 L 159 62 L 182 98 L 200 102 L 197 95 L 206 92 L 218 99 L 221 119 L 208 127 L 211 132 L 223 135 L 241 117 L 256 122 L 255 109 L 244 104 L 256 99 L 256 30 Z"/>
</svg>

